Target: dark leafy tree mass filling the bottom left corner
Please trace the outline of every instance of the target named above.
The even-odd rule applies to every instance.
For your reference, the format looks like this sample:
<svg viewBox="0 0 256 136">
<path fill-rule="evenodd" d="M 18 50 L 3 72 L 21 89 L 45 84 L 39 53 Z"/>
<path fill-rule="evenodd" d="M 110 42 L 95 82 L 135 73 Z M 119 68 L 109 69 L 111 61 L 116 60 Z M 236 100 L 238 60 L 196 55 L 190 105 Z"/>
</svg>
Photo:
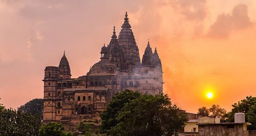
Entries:
<svg viewBox="0 0 256 136">
<path fill-rule="evenodd" d="M 38 135 L 40 126 L 40 116 L 12 108 L 0 111 L 0 135 Z"/>
</svg>

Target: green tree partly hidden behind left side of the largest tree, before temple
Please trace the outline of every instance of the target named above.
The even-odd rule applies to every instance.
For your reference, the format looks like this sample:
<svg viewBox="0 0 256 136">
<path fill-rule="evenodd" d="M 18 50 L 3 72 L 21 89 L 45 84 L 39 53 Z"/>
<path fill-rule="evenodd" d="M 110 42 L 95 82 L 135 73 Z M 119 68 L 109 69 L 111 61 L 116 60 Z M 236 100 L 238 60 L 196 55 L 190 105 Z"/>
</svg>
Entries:
<svg viewBox="0 0 256 136">
<path fill-rule="evenodd" d="M 140 93 L 133 92 L 132 90 L 124 90 L 122 93 L 117 93 L 102 114 L 100 114 L 102 120 L 100 126 L 101 132 L 106 133 L 107 130 L 116 126 L 118 123 L 116 119 L 118 111 L 120 111 L 126 103 L 138 98 L 139 96 Z"/>
</svg>

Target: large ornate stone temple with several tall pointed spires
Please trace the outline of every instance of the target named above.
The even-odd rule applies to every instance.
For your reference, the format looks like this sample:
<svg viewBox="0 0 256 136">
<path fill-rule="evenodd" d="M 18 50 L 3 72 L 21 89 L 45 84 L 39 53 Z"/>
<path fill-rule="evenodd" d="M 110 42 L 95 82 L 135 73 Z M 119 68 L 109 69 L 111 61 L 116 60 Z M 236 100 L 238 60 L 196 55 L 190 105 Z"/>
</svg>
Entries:
<svg viewBox="0 0 256 136">
<path fill-rule="evenodd" d="M 140 61 L 129 18 L 117 37 L 115 27 L 110 43 L 101 48 L 100 61 L 87 75 L 71 78 L 65 52 L 58 66 L 46 66 L 43 121 L 72 122 L 96 117 L 118 92 L 131 89 L 143 94 L 162 94 L 162 64 L 150 43 Z"/>
</svg>

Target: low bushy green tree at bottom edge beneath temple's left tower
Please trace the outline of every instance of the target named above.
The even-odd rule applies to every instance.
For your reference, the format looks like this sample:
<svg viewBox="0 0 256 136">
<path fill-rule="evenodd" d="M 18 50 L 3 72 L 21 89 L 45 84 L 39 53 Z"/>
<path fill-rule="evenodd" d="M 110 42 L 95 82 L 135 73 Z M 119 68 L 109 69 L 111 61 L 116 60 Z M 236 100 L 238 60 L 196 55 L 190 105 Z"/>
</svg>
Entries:
<svg viewBox="0 0 256 136">
<path fill-rule="evenodd" d="M 72 135 L 71 132 L 66 133 L 65 127 L 63 127 L 60 123 L 49 122 L 48 124 L 43 124 L 39 130 L 39 136 L 64 136 L 64 135 Z"/>
</svg>

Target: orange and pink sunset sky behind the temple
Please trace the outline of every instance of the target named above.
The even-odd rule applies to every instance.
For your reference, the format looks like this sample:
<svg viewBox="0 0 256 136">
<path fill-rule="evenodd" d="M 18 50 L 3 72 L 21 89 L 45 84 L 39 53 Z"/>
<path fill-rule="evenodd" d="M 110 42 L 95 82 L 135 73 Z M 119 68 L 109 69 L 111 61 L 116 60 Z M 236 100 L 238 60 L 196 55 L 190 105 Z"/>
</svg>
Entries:
<svg viewBox="0 0 256 136">
<path fill-rule="evenodd" d="M 72 78 L 86 75 L 125 11 L 141 59 L 147 39 L 157 47 L 172 103 L 229 111 L 256 96 L 254 0 L 28 0 L 0 1 L 0 103 L 17 108 L 42 98 L 44 69 L 58 66 L 63 50 Z"/>
</svg>

